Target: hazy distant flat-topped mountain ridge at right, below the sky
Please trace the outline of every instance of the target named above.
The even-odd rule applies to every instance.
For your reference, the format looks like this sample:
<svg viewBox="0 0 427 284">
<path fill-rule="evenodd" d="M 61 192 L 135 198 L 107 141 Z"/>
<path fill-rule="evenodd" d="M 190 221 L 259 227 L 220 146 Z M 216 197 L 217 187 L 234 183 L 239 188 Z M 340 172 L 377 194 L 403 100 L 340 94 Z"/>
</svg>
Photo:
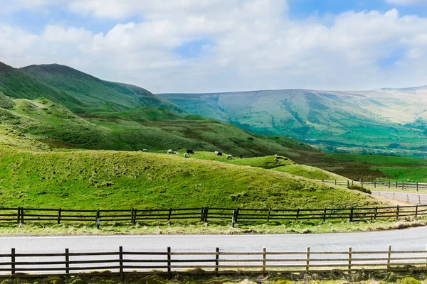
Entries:
<svg viewBox="0 0 427 284">
<path fill-rule="evenodd" d="M 329 151 L 423 155 L 427 87 L 327 92 L 306 89 L 159 94 L 193 114 Z"/>
</svg>

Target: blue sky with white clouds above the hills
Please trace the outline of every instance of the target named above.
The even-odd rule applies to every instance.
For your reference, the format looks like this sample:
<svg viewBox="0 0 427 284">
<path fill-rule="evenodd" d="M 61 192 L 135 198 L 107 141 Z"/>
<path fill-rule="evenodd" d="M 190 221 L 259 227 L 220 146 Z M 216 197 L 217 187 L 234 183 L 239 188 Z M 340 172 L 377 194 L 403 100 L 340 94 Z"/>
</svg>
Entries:
<svg viewBox="0 0 427 284">
<path fill-rule="evenodd" d="M 0 0 L 0 62 L 154 93 L 427 85 L 427 0 Z"/>
</svg>

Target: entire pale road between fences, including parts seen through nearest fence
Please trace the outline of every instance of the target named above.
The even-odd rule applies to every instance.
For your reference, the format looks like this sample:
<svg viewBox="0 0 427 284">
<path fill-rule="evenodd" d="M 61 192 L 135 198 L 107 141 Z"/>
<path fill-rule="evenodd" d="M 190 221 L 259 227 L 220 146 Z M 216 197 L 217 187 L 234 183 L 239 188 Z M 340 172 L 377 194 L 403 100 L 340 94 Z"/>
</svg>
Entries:
<svg viewBox="0 0 427 284">
<path fill-rule="evenodd" d="M 5 257 L 0 257 L 0 262 L 7 263 L 1 271 L 3 274 L 11 273 L 11 249 L 15 249 L 15 253 L 65 253 L 65 249 L 69 249 L 69 253 L 78 252 L 112 252 L 110 256 L 87 256 L 85 259 L 90 261 L 99 261 L 100 259 L 110 259 L 112 266 L 115 266 L 117 271 L 117 259 L 119 246 L 123 246 L 123 251 L 127 252 L 154 252 L 160 253 L 157 256 L 152 256 L 152 259 L 158 259 L 164 263 L 165 256 L 167 256 L 167 247 L 172 248 L 172 253 L 179 252 L 204 252 L 214 253 L 208 256 L 172 256 L 172 259 L 193 259 L 208 258 L 214 259 L 216 248 L 220 248 L 222 252 L 257 252 L 258 257 L 262 256 L 260 252 L 263 247 L 266 251 L 297 251 L 300 254 L 298 257 L 305 257 L 304 252 L 307 246 L 311 247 L 310 252 L 321 251 L 348 251 L 352 247 L 352 251 L 387 251 L 388 245 L 392 245 L 393 251 L 421 251 L 418 254 L 411 254 L 411 257 L 418 258 L 417 261 L 426 263 L 426 239 L 427 228 L 413 228 L 400 231 L 376 231 L 367 233 L 344 233 L 344 234 L 290 234 L 290 235 L 240 235 L 240 236 L 43 236 L 43 237 L 3 237 L 0 238 L 0 254 L 6 254 Z M 371 258 L 387 258 L 388 253 L 379 253 Z M 408 257 L 408 253 L 393 253 L 392 257 Z M 76 261 L 77 256 L 70 256 L 70 261 Z M 242 261 L 248 258 L 246 255 L 239 256 L 221 256 L 221 259 L 231 258 L 240 261 L 230 262 L 227 264 L 236 266 L 245 266 L 245 264 L 253 264 L 251 262 Z M 268 258 L 275 258 L 276 256 L 268 256 Z M 279 256 L 277 256 L 279 257 Z M 290 256 L 280 256 L 281 258 Z M 336 256 L 311 256 L 312 258 L 340 258 L 344 259 L 343 263 L 348 263 L 348 254 Z M 369 256 L 353 256 L 354 258 Z M 132 259 L 135 256 L 125 256 L 125 259 Z M 150 258 L 151 259 L 151 258 Z M 36 257 L 16 257 L 15 261 L 65 261 L 64 256 L 56 258 L 36 258 Z M 382 260 L 384 263 L 384 259 Z M 301 262 L 301 261 L 300 261 Z M 304 263 L 304 262 L 302 262 Z M 356 262 L 355 262 L 356 263 Z M 354 263 L 354 264 L 355 264 Z M 375 263 L 375 262 L 374 262 Z M 395 260 L 396 263 L 396 260 Z M 103 263 L 105 265 L 105 263 Z M 108 263 L 107 263 L 108 264 Z M 129 264 L 129 263 L 127 263 Z M 181 262 L 180 265 L 189 266 L 194 262 Z M 212 264 L 210 262 L 209 264 Z M 256 264 L 260 264 L 259 262 Z M 270 263 L 272 264 L 272 263 Z M 301 264 L 301 263 L 300 263 Z M 315 264 L 315 263 L 312 263 Z M 318 263 L 317 263 L 318 264 Z M 65 267 L 64 263 L 58 264 L 60 267 Z M 71 266 L 77 266 L 72 264 Z M 95 264 L 80 264 L 80 267 L 94 270 Z M 16 265 L 16 268 L 25 268 L 28 265 Z M 33 266 L 34 267 L 34 266 Z M 35 268 L 41 266 L 35 266 Z M 354 266 L 356 267 L 356 266 Z M 132 270 L 132 269 L 130 269 Z M 65 270 L 63 270 L 65 271 Z M 62 271 L 62 272 L 63 272 Z M 17 271 L 19 272 L 19 271 Z M 33 271 L 34 272 L 34 271 Z M 40 272 L 40 271 L 38 271 Z M 73 272 L 73 271 L 71 271 Z M 75 271 L 74 271 L 75 272 Z M 45 271 L 46 273 L 46 271 Z"/>
</svg>

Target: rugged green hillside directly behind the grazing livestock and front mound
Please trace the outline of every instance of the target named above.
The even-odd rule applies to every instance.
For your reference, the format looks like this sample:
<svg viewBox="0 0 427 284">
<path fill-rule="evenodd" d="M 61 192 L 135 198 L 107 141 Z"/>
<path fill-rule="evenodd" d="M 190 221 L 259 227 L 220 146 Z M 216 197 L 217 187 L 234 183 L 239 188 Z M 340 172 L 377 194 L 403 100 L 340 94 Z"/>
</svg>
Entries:
<svg viewBox="0 0 427 284">
<path fill-rule="evenodd" d="M 11 99 L 0 94 L 0 119 L 8 129 L 53 148 L 125 151 L 191 148 L 247 157 L 315 151 L 289 139 L 258 137 L 231 124 L 194 115 L 181 117 L 154 107 L 80 117 L 48 99 Z"/>
</svg>

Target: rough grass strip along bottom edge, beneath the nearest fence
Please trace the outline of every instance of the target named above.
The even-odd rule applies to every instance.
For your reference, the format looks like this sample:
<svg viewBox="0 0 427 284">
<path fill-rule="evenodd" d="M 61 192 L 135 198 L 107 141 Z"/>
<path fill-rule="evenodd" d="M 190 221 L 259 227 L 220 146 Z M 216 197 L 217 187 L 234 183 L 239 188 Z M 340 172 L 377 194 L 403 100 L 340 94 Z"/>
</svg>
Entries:
<svg viewBox="0 0 427 284">
<path fill-rule="evenodd" d="M 105 271 L 107 273 L 108 271 Z M 275 273 L 265 272 L 249 274 L 239 271 L 234 275 L 201 275 L 199 270 L 186 271 L 189 274 L 176 275 L 167 280 L 160 275 L 131 275 L 127 273 L 125 280 L 119 276 L 88 273 L 78 276 L 45 278 L 6 278 L 1 284 L 422 284 L 426 283 L 425 271 L 342 271 L 307 272 L 307 273 Z M 191 273 L 192 272 L 192 273 Z"/>
</svg>

